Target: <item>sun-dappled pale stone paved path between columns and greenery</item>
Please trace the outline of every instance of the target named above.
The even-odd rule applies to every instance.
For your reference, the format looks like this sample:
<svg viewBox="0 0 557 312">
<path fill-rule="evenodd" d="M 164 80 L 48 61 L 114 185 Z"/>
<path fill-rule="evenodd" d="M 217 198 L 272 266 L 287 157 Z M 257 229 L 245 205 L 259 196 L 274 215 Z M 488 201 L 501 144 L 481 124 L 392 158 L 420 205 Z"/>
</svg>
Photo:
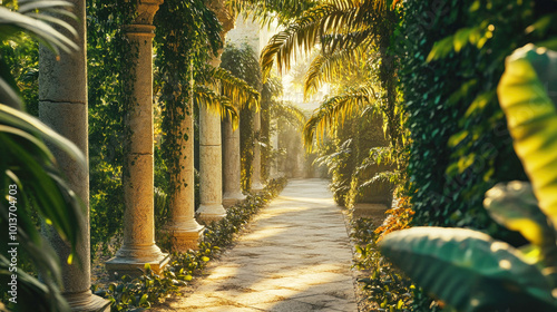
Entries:
<svg viewBox="0 0 557 312">
<path fill-rule="evenodd" d="M 356 312 L 351 248 L 323 179 L 294 179 L 208 276 L 159 311 Z"/>
</svg>

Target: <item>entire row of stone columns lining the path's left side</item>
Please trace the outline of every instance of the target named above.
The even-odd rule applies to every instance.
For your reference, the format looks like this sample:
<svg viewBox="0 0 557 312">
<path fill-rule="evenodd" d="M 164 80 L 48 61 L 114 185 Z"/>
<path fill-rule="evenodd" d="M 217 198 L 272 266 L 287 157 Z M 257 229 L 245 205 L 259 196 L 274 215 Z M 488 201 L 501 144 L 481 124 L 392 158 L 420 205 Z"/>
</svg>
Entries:
<svg viewBox="0 0 557 312">
<path fill-rule="evenodd" d="M 88 115 L 87 115 L 87 56 L 86 56 L 86 16 L 85 0 L 72 0 L 78 21 L 67 18 L 78 31 L 79 52 L 57 57 L 41 48 L 39 101 L 40 119 L 50 125 L 62 136 L 74 142 L 85 155 L 88 155 Z M 125 27 L 134 57 L 130 85 L 133 86 L 133 105 L 129 108 L 125 125 L 129 129 L 127 144 L 127 173 L 123 177 L 125 215 L 124 242 L 116 256 L 109 260 L 106 267 L 109 272 L 120 274 L 137 274 L 146 263 L 158 272 L 168 263 L 168 255 L 163 253 L 155 243 L 154 220 L 154 125 L 153 125 L 153 38 L 155 37 L 153 19 L 163 0 L 137 0 L 136 19 L 133 25 Z M 223 23 L 223 39 L 225 33 L 234 27 L 234 19 L 229 16 L 223 0 L 207 0 L 212 9 Z M 211 61 L 214 67 L 219 66 L 221 53 Z M 192 110 L 189 110 L 192 111 Z M 180 130 L 193 138 L 192 115 L 187 115 L 180 125 Z M 221 117 L 199 109 L 201 117 L 201 208 L 199 218 L 203 222 L 217 221 L 226 215 L 223 207 L 223 170 L 221 146 Z M 256 121 L 257 123 L 257 121 Z M 225 155 L 229 155 L 225 163 L 224 191 L 225 198 L 240 201 L 243 195 L 240 191 L 240 137 L 238 130 L 225 126 L 227 147 Z M 172 236 L 177 250 L 195 248 L 202 236 L 203 226 L 195 220 L 194 207 L 194 148 L 193 139 L 184 139 L 180 157 L 178 181 L 186 186 L 172 195 L 172 220 L 166 231 Z M 257 145 L 256 145 L 257 146 Z M 258 148 L 258 147 L 256 147 Z M 89 174 L 88 168 L 80 168 L 72 159 L 68 159 L 61 152 L 55 150 L 55 156 L 61 170 L 69 178 L 69 185 L 84 199 L 87 214 L 84 216 L 86 228 L 82 230 L 81 241 L 77 246 L 78 257 L 82 265 L 63 264 L 62 283 L 63 295 L 75 311 L 109 311 L 108 302 L 90 292 L 90 234 L 89 234 Z M 256 152 L 258 153 L 258 152 Z M 255 159 L 260 182 L 260 160 Z M 260 183 L 261 184 L 261 183 Z M 49 235 L 55 250 L 61 259 L 66 259 L 70 247 L 56 235 Z"/>
</svg>

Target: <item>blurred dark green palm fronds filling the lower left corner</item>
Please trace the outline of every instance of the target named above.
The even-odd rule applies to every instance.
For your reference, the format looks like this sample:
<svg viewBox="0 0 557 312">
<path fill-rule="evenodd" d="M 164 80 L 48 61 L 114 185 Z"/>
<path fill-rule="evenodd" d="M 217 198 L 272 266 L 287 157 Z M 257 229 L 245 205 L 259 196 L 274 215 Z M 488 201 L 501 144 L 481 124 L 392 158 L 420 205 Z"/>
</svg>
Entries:
<svg viewBox="0 0 557 312">
<path fill-rule="evenodd" d="M 87 166 L 82 153 L 68 139 L 35 117 L 0 104 L 0 144 L 4 147 L 0 162 L 0 172 L 4 178 L 0 179 L 0 191 L 3 194 L 17 194 L 9 197 L 9 201 L 13 201 L 18 207 L 19 247 L 26 250 L 45 283 L 45 286 L 38 286 L 38 281 L 27 276 L 25 281 L 27 284 L 21 287 L 20 298 L 25 302 L 32 298 L 30 302 L 39 301 L 43 306 L 50 306 L 52 311 L 67 311 L 65 310 L 67 303 L 61 300 L 57 289 L 60 279 L 58 256 L 41 237 L 29 216 L 30 209 L 38 212 L 60 237 L 71 244 L 71 255 L 76 255 L 76 243 L 81 235 L 80 228 L 85 227 L 81 217 L 82 202 L 56 169 L 56 159 L 42 139 L 66 152 L 78 166 Z M 9 189 L 17 192 L 9 193 Z M 11 213 L 13 212 L 9 211 L 8 206 L 0 204 L 0 224 L 8 224 L 13 217 L 10 216 Z M 0 243 L 7 245 L 6 240 L 8 237 L 0 238 Z M 6 256 L 4 253 L 2 255 Z M 10 273 L 0 270 L 0 274 Z M 23 279 L 20 282 L 23 285 Z M 21 303 L 21 306 L 33 309 L 32 304 L 27 302 Z"/>
</svg>

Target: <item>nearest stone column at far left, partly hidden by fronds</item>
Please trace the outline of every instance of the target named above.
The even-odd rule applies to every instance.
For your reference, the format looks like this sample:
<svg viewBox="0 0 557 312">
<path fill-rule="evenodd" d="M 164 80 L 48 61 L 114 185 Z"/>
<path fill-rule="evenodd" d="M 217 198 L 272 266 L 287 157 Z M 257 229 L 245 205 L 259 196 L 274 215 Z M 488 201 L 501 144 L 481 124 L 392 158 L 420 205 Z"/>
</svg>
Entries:
<svg viewBox="0 0 557 312">
<path fill-rule="evenodd" d="M 40 47 L 39 61 L 39 118 L 60 135 L 67 137 L 88 156 L 87 123 L 87 38 L 85 0 L 72 0 L 78 20 L 65 18 L 78 33 L 79 51 L 61 52 L 59 60 L 46 47 Z M 71 38 L 71 37 L 70 37 Z M 91 294 L 90 234 L 89 234 L 89 169 L 76 164 L 66 153 L 53 149 L 68 185 L 84 201 L 86 211 L 77 254 L 81 263 L 68 265 L 71 252 L 55 231 L 45 231 L 62 265 L 62 294 L 74 311 L 109 311 L 109 302 Z"/>
</svg>

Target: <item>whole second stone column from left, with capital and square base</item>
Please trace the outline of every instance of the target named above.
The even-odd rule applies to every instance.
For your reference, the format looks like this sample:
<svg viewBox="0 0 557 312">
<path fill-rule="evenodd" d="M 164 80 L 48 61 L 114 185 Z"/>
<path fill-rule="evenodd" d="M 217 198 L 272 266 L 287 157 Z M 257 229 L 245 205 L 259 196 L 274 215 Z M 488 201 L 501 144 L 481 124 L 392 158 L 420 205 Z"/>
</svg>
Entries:
<svg viewBox="0 0 557 312">
<path fill-rule="evenodd" d="M 127 172 L 124 174 L 124 244 L 106 263 L 109 272 L 138 275 L 146 263 L 160 272 L 168 254 L 155 244 L 154 148 L 153 148 L 153 18 L 163 1 L 138 1 L 138 17 L 125 31 L 134 58 L 131 107 L 126 117 L 130 130 Z"/>
</svg>

